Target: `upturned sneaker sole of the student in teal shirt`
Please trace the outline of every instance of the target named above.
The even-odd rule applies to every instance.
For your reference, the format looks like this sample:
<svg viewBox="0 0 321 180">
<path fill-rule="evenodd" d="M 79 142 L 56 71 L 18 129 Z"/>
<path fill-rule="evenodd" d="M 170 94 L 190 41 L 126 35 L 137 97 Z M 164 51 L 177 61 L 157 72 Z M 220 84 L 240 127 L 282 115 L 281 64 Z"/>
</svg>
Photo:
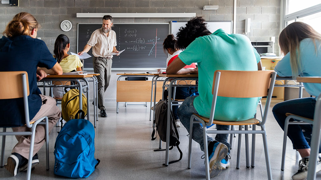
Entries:
<svg viewBox="0 0 321 180">
<path fill-rule="evenodd" d="M 225 158 L 225 156 L 227 155 L 227 152 L 228 152 L 228 148 L 220 143 L 215 151 L 214 151 L 214 155 L 213 157 L 216 157 L 216 158 L 212 158 L 211 161 L 210 161 L 210 177 L 215 177 L 215 176 L 218 176 L 221 172 L 222 172 L 222 166 L 221 166 L 221 160 L 223 158 Z"/>
</svg>

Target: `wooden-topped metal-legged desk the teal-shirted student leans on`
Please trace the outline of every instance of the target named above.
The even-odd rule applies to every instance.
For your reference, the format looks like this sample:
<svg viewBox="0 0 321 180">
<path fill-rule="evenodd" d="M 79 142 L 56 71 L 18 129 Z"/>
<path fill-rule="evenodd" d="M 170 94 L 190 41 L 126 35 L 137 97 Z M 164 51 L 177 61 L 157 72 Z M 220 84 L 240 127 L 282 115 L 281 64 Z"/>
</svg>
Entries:
<svg viewBox="0 0 321 180">
<path fill-rule="evenodd" d="M 168 97 L 172 97 L 172 87 L 189 87 L 189 86 L 197 86 L 197 85 L 189 85 L 189 84 L 174 84 L 174 82 L 179 80 L 198 80 L 198 74 L 160 74 L 159 77 L 167 77 L 163 82 L 163 90 L 165 88 L 168 89 Z M 168 84 L 167 84 L 168 83 Z M 164 92 L 162 95 L 162 100 L 164 100 Z M 155 102 L 154 102 L 155 103 Z M 170 119 L 170 110 L 171 110 L 171 101 L 168 101 L 167 108 L 167 119 Z M 166 156 L 165 156 L 165 166 L 168 166 L 169 162 L 169 127 L 170 121 L 167 121 L 166 127 Z M 161 140 L 159 143 L 159 148 L 161 148 Z"/>
</svg>

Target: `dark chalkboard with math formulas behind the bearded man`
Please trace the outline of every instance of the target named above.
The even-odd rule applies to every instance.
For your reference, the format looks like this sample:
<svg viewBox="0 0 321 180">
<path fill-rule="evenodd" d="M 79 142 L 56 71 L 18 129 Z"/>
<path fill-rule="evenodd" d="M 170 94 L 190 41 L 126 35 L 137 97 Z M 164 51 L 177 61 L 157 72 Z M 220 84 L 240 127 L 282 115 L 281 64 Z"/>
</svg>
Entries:
<svg viewBox="0 0 321 180">
<path fill-rule="evenodd" d="M 82 51 L 92 32 L 100 29 L 100 24 L 78 24 L 77 52 Z M 117 35 L 117 50 L 126 49 L 119 56 L 113 56 L 112 70 L 154 70 L 166 68 L 167 53 L 163 51 L 163 41 L 169 34 L 169 23 L 114 24 L 112 30 Z M 88 52 L 92 56 L 92 48 Z M 84 60 L 84 69 L 92 70 L 92 57 Z"/>
</svg>

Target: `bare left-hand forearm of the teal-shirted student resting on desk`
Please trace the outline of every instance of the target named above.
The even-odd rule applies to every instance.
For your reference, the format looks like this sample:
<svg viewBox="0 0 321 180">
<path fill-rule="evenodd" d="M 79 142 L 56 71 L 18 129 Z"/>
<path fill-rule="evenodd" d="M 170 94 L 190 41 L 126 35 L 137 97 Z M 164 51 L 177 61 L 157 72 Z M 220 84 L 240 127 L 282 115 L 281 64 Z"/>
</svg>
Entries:
<svg viewBox="0 0 321 180">
<path fill-rule="evenodd" d="M 198 69 L 188 69 L 184 68 L 186 64 L 179 59 L 179 57 L 175 58 L 172 63 L 166 69 L 166 74 L 197 74 Z"/>
</svg>

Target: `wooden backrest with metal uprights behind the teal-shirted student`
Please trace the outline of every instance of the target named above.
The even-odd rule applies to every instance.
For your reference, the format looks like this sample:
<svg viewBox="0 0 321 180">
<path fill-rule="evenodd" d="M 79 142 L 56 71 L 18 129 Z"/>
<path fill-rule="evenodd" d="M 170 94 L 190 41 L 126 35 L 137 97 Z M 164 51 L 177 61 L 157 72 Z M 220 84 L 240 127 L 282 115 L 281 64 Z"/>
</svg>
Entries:
<svg viewBox="0 0 321 180">
<path fill-rule="evenodd" d="M 262 122 L 264 126 L 272 98 L 276 72 L 273 70 L 262 71 L 231 71 L 216 70 L 213 79 L 213 101 L 210 114 L 211 125 L 214 119 L 217 96 L 233 98 L 251 98 L 267 96 Z"/>
</svg>

